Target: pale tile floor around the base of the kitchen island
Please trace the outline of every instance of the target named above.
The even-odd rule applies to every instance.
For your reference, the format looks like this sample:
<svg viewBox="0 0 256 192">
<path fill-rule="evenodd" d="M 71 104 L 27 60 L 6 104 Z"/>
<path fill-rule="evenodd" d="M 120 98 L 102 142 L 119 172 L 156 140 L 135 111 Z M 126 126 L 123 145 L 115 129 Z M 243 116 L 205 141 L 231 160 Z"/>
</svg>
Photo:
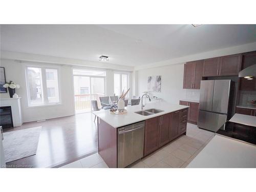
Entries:
<svg viewBox="0 0 256 192">
<path fill-rule="evenodd" d="M 183 135 L 155 153 L 131 165 L 131 168 L 184 168 L 214 137 L 214 133 L 198 129 L 197 125 L 187 123 L 187 135 Z M 72 162 L 61 168 L 107 168 L 98 153 Z"/>
</svg>

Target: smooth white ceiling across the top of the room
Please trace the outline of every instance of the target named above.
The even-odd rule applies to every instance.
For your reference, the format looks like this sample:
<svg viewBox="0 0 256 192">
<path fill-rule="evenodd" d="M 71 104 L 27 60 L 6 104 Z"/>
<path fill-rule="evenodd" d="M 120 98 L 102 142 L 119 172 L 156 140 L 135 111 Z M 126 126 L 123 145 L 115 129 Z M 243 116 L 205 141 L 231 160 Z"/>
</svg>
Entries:
<svg viewBox="0 0 256 192">
<path fill-rule="evenodd" d="M 139 66 L 256 41 L 256 25 L 1 25 L 1 50 Z"/>
</svg>

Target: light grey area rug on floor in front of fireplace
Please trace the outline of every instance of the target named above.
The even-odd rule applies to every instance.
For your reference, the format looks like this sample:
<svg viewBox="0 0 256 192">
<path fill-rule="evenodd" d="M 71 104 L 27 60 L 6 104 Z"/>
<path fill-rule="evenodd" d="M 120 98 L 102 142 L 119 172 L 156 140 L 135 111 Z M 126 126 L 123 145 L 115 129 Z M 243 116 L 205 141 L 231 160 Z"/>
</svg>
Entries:
<svg viewBox="0 0 256 192">
<path fill-rule="evenodd" d="M 5 162 L 36 154 L 41 126 L 4 133 Z"/>
</svg>

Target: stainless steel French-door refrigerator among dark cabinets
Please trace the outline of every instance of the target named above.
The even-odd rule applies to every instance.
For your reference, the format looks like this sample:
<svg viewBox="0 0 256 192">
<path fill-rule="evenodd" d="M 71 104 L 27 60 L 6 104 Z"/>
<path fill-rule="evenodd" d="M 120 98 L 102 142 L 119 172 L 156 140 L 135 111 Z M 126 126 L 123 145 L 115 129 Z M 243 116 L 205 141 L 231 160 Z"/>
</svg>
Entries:
<svg viewBox="0 0 256 192">
<path fill-rule="evenodd" d="M 231 80 L 201 80 L 198 127 L 216 132 L 227 121 Z"/>
</svg>

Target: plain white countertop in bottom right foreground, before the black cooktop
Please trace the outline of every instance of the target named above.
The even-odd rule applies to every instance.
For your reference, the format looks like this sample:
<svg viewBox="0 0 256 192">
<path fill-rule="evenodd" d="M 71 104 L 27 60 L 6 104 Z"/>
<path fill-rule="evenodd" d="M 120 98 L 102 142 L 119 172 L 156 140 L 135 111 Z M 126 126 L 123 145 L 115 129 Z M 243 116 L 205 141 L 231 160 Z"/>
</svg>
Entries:
<svg viewBox="0 0 256 192">
<path fill-rule="evenodd" d="M 256 146 L 219 135 L 187 166 L 188 168 L 256 167 Z"/>
</svg>

